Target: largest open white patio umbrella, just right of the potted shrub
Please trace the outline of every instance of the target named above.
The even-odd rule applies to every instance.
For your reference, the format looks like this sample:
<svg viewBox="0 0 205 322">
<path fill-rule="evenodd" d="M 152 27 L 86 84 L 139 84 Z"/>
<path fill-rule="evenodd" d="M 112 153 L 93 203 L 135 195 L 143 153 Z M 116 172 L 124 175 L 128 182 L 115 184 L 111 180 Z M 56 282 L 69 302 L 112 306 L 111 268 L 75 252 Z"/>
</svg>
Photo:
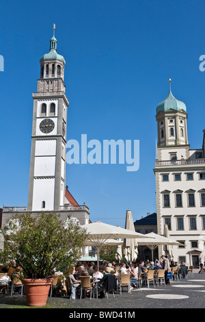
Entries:
<svg viewBox="0 0 205 322">
<path fill-rule="evenodd" d="M 139 234 L 131 230 L 126 230 L 121 227 L 109 225 L 107 223 L 102 223 L 101 221 L 88 223 L 87 225 L 82 225 L 81 227 L 87 230 L 87 243 L 88 240 L 92 241 L 92 246 L 97 250 L 98 267 L 99 249 L 101 245 L 105 244 L 106 240 L 120 238 L 145 238 L 145 235 L 143 234 Z"/>
</svg>

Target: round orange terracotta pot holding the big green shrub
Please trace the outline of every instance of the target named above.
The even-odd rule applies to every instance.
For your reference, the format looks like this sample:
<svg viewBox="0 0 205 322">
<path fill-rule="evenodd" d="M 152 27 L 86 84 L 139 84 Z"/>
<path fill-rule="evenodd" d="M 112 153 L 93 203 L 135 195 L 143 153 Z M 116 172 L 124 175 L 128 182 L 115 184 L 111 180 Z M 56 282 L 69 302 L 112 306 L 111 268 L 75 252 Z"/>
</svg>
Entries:
<svg viewBox="0 0 205 322">
<path fill-rule="evenodd" d="M 53 278 L 22 280 L 22 283 L 25 287 L 27 305 L 45 306 L 52 282 Z"/>
</svg>

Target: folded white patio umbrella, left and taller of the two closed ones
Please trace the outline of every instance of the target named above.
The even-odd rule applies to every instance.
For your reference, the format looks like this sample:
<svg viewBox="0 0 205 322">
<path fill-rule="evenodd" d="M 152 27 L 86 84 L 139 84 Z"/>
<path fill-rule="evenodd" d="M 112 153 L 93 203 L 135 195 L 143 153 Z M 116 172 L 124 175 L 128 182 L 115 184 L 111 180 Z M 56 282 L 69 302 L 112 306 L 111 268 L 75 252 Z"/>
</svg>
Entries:
<svg viewBox="0 0 205 322">
<path fill-rule="evenodd" d="M 135 232 L 135 226 L 133 223 L 133 216 L 131 210 L 126 210 L 125 229 Z M 124 239 L 124 256 L 128 262 L 137 260 L 137 239 L 125 238 Z"/>
</svg>

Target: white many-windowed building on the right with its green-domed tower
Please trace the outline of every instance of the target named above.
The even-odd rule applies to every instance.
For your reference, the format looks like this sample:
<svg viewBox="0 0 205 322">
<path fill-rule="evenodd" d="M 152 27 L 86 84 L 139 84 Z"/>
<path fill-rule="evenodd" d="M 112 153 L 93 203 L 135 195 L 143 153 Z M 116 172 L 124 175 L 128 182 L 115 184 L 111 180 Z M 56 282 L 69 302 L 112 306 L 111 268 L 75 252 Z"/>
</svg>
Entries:
<svg viewBox="0 0 205 322">
<path fill-rule="evenodd" d="M 172 95 L 170 82 L 156 121 L 157 233 L 163 235 L 167 225 L 170 238 L 183 244 L 173 246 L 174 261 L 197 268 L 205 260 L 205 145 L 203 140 L 202 149 L 190 149 L 187 108 Z M 159 247 L 159 256 L 164 252 Z"/>
</svg>

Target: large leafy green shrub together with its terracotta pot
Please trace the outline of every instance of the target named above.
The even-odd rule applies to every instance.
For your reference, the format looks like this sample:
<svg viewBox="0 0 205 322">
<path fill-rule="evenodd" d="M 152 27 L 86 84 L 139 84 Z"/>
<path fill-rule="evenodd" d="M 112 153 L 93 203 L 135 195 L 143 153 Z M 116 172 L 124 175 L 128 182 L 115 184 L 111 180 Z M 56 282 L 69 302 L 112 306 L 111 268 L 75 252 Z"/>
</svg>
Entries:
<svg viewBox="0 0 205 322">
<path fill-rule="evenodd" d="M 86 232 L 79 221 L 59 214 L 16 214 L 1 233 L 4 248 L 1 262 L 15 260 L 25 286 L 28 306 L 45 306 L 52 276 L 62 267 L 70 269 L 81 257 Z"/>
</svg>

